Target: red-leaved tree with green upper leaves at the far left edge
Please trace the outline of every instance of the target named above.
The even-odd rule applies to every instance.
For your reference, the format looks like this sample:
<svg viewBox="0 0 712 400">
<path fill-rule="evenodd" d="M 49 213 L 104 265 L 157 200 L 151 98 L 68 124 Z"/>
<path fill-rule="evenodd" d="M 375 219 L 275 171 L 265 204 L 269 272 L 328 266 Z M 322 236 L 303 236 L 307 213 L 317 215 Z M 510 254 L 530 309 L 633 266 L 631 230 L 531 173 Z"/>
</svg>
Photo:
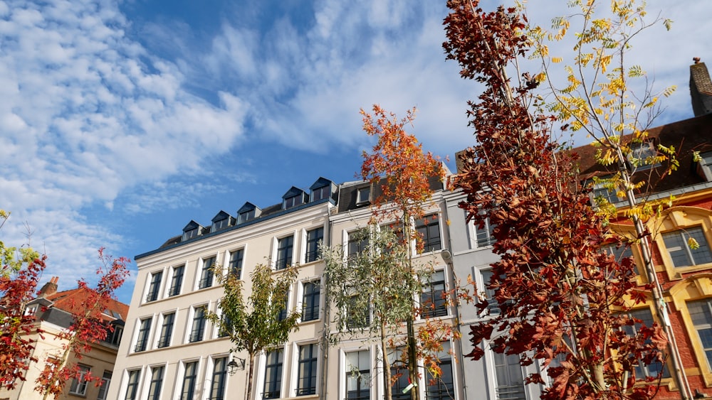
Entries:
<svg viewBox="0 0 712 400">
<path fill-rule="evenodd" d="M 0 228 L 9 216 L 0 210 Z M 45 259 L 30 247 L 6 247 L 0 241 L 0 386 L 6 389 L 25 380 L 30 364 L 38 361 L 31 355 L 41 332 L 25 308 L 35 296 Z"/>
</svg>

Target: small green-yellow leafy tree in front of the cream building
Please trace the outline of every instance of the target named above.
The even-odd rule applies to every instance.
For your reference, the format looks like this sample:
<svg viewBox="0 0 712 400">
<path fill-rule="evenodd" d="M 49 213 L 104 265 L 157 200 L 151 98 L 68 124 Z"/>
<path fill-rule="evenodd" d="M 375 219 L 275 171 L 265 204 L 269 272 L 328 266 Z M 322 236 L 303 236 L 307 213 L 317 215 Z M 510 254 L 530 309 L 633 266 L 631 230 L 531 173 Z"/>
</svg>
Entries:
<svg viewBox="0 0 712 400">
<path fill-rule="evenodd" d="M 289 333 L 298 330 L 298 311 L 286 310 L 287 293 L 297 270 L 288 267 L 273 273 L 266 264 L 258 264 L 250 275 L 251 293 L 244 297 L 244 281 L 233 273 L 222 274 L 216 266 L 224 297 L 219 301 L 220 313 L 208 312 L 207 318 L 218 326 L 221 335 L 230 338 L 231 351 L 245 350 L 247 388 L 245 399 L 252 399 L 253 365 L 255 357 L 286 342 Z"/>
</svg>

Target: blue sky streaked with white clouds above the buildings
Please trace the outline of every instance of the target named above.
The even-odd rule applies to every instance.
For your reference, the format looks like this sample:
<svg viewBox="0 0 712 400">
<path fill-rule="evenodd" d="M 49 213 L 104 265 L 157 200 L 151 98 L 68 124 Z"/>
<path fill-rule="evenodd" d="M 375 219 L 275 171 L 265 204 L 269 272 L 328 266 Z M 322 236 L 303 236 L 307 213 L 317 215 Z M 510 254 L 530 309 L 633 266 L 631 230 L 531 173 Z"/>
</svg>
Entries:
<svg viewBox="0 0 712 400">
<path fill-rule="evenodd" d="M 417 107 L 412 133 L 452 158 L 472 144 L 478 88 L 444 59 L 444 3 L 0 0 L 1 238 L 48 254 L 43 281 L 92 281 L 99 247 L 132 258 L 190 220 L 352 180 L 371 144 L 358 111 L 373 103 Z M 531 0 L 530 19 L 564 4 Z M 634 53 L 657 87 L 679 86 L 658 121 L 691 117 L 688 67 L 712 57 L 712 4 L 649 11 L 676 21 Z"/>
</svg>

